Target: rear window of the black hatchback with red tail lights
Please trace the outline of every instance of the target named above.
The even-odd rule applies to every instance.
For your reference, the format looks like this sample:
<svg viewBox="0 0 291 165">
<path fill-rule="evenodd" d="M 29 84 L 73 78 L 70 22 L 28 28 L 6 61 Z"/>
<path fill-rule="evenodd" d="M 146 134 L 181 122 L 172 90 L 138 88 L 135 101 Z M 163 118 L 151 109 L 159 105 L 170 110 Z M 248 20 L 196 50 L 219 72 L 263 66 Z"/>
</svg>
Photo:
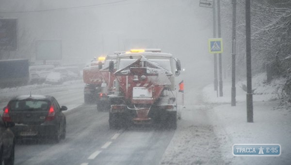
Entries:
<svg viewBox="0 0 291 165">
<path fill-rule="evenodd" d="M 14 100 L 10 102 L 11 111 L 46 111 L 49 109 L 48 100 Z"/>
</svg>

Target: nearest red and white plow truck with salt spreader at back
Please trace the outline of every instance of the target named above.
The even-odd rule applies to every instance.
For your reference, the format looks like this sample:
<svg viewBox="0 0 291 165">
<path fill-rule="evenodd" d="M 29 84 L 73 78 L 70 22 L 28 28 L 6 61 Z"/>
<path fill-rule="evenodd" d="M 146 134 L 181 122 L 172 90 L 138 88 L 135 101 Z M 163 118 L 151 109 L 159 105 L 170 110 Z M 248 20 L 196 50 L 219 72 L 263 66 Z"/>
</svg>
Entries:
<svg viewBox="0 0 291 165">
<path fill-rule="evenodd" d="M 161 49 L 131 49 L 117 55 L 114 74 L 114 94 L 109 95 L 110 128 L 132 124 L 157 124 L 177 128 L 175 76 L 181 65 L 172 54 Z"/>
</svg>

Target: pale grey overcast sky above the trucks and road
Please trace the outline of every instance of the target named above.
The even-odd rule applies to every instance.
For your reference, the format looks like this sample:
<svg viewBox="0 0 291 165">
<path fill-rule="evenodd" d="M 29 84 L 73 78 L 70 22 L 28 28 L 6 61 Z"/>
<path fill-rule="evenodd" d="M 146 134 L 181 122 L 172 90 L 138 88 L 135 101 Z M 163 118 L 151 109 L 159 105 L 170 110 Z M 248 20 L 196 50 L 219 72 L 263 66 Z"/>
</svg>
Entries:
<svg viewBox="0 0 291 165">
<path fill-rule="evenodd" d="M 36 40 L 61 39 L 63 61 L 161 48 L 185 68 L 213 67 L 201 64 L 213 60 L 212 9 L 196 0 L 0 0 L 0 17 L 18 18 L 18 49 L 11 53 L 32 60 Z"/>
</svg>

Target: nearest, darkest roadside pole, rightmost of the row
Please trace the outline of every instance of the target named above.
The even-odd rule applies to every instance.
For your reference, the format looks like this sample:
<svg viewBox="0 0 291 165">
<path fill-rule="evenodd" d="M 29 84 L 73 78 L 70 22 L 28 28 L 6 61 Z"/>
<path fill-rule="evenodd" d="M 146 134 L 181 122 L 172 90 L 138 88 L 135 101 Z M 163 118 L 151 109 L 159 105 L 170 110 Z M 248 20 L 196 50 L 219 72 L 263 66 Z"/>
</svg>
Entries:
<svg viewBox="0 0 291 165">
<path fill-rule="evenodd" d="M 246 117 L 253 120 L 252 59 L 251 59 L 251 0 L 245 0 L 245 41 L 246 41 Z"/>
</svg>

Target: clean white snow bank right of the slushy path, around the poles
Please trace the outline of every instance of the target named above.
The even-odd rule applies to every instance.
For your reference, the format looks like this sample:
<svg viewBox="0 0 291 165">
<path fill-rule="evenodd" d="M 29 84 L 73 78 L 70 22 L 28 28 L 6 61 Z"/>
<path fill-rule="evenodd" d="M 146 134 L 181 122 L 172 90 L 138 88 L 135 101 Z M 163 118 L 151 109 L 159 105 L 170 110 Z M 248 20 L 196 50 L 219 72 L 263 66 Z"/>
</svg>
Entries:
<svg viewBox="0 0 291 165">
<path fill-rule="evenodd" d="M 247 122 L 246 92 L 236 88 L 236 106 L 231 106 L 231 83 L 225 83 L 223 98 L 213 97 L 213 89 L 209 85 L 203 89 L 203 100 L 206 103 L 224 102 L 207 111 L 214 126 L 214 133 L 223 145 L 220 148 L 221 159 L 234 165 L 291 165 L 291 110 L 280 109 L 279 98 L 285 79 L 276 79 L 266 83 L 266 75 L 260 74 L 252 79 L 253 123 Z M 237 84 L 245 84 L 238 82 Z M 212 97 L 211 97 L 212 96 Z M 280 144 L 282 154 L 279 157 L 234 157 L 233 144 Z"/>
</svg>

